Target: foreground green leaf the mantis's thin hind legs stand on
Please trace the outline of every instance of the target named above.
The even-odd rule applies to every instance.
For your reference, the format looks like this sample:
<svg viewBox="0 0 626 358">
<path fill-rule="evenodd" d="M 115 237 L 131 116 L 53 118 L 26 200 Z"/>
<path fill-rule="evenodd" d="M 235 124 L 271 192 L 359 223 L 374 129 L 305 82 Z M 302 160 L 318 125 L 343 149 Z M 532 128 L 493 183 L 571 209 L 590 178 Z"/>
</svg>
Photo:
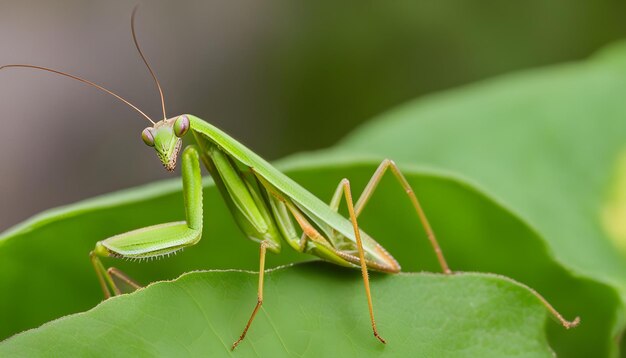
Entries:
<svg viewBox="0 0 626 358">
<path fill-rule="evenodd" d="M 267 300 L 231 353 L 256 303 L 257 275 L 194 272 L 156 283 L 17 335 L 0 356 L 552 356 L 545 309 L 506 279 L 373 275 L 384 346 L 372 336 L 358 272 L 322 263 L 268 272 Z"/>
</svg>

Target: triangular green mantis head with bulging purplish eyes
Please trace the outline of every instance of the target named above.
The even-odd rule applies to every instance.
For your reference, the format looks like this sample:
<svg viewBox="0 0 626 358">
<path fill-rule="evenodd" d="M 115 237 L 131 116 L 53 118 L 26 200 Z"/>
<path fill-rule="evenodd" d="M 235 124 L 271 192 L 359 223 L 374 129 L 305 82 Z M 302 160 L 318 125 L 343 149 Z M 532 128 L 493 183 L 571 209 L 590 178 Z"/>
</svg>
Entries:
<svg viewBox="0 0 626 358">
<path fill-rule="evenodd" d="M 189 131 L 189 118 L 186 115 L 164 119 L 141 132 L 141 139 L 149 147 L 154 147 L 157 156 L 169 172 L 176 168 L 178 152 L 182 147 L 182 137 Z"/>
</svg>

